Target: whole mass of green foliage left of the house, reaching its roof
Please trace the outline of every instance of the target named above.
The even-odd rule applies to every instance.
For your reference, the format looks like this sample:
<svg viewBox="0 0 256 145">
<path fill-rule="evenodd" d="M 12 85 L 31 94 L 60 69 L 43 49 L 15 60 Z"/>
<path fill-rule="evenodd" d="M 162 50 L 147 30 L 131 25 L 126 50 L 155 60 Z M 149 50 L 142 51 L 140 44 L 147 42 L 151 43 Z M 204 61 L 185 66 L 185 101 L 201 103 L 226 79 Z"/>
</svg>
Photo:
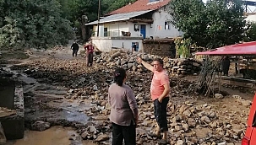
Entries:
<svg viewBox="0 0 256 145">
<path fill-rule="evenodd" d="M 101 0 L 101 16 L 135 0 Z M 72 27 L 98 18 L 98 0 L 0 0 L 0 49 L 65 45 Z M 72 26 L 72 27 L 71 27 Z"/>
</svg>

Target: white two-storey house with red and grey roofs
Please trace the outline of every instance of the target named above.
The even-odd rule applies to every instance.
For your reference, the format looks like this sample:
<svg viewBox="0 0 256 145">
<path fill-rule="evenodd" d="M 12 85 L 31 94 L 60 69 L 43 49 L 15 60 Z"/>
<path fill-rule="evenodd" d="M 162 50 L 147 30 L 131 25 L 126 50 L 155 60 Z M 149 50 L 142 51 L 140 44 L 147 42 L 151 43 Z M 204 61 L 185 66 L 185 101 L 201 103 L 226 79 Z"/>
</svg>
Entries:
<svg viewBox="0 0 256 145">
<path fill-rule="evenodd" d="M 133 43 L 138 42 L 138 51 L 143 50 L 144 39 L 166 39 L 182 35 L 172 24 L 168 13 L 170 0 L 138 0 L 119 8 L 94 22 L 92 42 L 101 51 L 112 48 L 131 50 Z M 99 30 L 98 30 L 99 24 Z M 99 32 L 99 36 L 97 33 Z"/>
</svg>

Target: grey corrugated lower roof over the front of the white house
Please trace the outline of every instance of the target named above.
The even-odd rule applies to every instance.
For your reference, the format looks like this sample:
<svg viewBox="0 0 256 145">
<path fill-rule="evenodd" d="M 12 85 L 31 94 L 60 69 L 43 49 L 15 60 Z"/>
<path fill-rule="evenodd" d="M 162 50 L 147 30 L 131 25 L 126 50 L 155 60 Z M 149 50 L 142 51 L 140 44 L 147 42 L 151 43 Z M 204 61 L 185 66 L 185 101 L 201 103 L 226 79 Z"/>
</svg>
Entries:
<svg viewBox="0 0 256 145">
<path fill-rule="evenodd" d="M 102 23 L 108 23 L 108 22 L 117 22 L 117 21 L 122 21 L 122 20 L 128 20 L 133 17 L 139 16 L 144 13 L 149 13 L 152 10 L 147 10 L 147 11 L 139 11 L 139 12 L 131 12 L 131 13 L 119 13 L 119 14 L 113 14 L 110 16 L 107 16 L 106 18 L 100 19 L 100 24 Z M 98 20 L 95 20 L 94 22 L 90 22 L 85 25 L 91 25 L 91 24 L 98 24 Z"/>
</svg>

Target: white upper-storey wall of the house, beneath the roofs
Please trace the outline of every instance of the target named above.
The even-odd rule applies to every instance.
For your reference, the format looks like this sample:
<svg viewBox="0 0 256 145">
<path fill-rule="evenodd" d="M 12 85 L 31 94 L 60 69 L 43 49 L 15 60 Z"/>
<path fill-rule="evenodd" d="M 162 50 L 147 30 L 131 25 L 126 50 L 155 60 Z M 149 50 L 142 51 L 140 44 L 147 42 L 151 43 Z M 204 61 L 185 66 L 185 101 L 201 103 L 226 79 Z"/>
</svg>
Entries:
<svg viewBox="0 0 256 145">
<path fill-rule="evenodd" d="M 169 24 L 169 30 L 165 29 L 165 22 L 170 21 L 172 19 L 171 15 L 168 13 L 169 6 L 160 8 L 160 10 L 156 10 L 152 15 L 152 19 L 154 20 L 153 24 L 146 23 L 138 23 L 138 24 L 146 24 L 146 38 L 175 38 L 177 36 L 181 36 L 182 32 L 178 31 L 172 24 Z M 256 19 L 256 16 L 255 16 Z M 131 32 L 131 37 L 140 37 L 140 25 L 139 31 L 134 31 L 134 23 L 132 22 L 115 22 L 112 24 L 105 24 L 107 30 L 109 31 L 109 35 L 111 37 L 122 36 L 122 31 Z M 97 26 L 95 25 L 95 36 L 97 31 Z M 100 27 L 100 36 L 104 36 L 104 26 Z"/>
</svg>

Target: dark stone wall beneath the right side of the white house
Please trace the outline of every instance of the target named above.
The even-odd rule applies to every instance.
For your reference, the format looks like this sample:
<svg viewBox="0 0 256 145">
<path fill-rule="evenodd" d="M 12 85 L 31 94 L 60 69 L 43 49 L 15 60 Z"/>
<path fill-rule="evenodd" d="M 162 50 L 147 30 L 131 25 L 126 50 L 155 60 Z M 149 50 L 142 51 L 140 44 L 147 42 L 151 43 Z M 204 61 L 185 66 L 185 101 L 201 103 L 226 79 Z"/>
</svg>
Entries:
<svg viewBox="0 0 256 145">
<path fill-rule="evenodd" d="M 175 58 L 176 50 L 173 40 L 144 40 L 144 53 L 155 56 Z"/>
</svg>

